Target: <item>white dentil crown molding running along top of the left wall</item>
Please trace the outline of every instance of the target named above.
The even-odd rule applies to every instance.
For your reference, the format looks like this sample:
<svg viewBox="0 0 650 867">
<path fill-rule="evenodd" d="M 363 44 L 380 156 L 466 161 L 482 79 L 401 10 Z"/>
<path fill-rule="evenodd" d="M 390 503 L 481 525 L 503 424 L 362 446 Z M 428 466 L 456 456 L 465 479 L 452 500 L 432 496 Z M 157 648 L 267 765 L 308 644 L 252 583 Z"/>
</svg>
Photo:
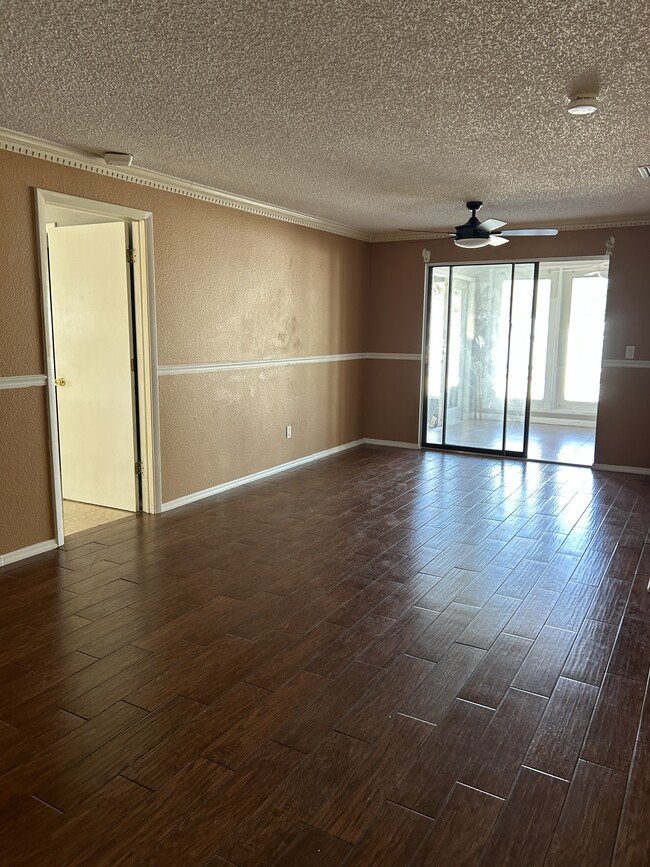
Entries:
<svg viewBox="0 0 650 867">
<path fill-rule="evenodd" d="M 173 175 L 156 172 L 152 169 L 144 169 L 139 166 L 130 166 L 129 168 L 108 166 L 99 154 L 71 148 L 67 145 L 47 141 L 36 136 L 25 135 L 24 133 L 15 132 L 3 127 L 0 127 L 0 150 L 48 160 L 58 165 L 81 169 L 85 172 L 94 172 L 95 174 L 116 178 L 120 181 L 141 184 L 145 187 L 154 187 L 157 190 L 177 193 L 180 196 L 189 196 L 192 199 L 212 202 L 225 208 L 235 208 L 238 211 L 246 211 L 259 217 L 270 217 L 273 220 L 281 220 L 284 223 L 305 226 L 308 229 L 317 229 L 318 231 L 329 232 L 333 235 L 343 235 L 346 238 L 355 238 L 358 241 L 370 240 L 368 232 L 354 229 L 342 223 L 313 217 L 310 214 L 301 214 L 289 208 L 282 208 L 277 205 L 270 205 L 267 202 L 238 196 L 235 193 L 217 190 L 204 184 L 176 178 Z"/>
</svg>

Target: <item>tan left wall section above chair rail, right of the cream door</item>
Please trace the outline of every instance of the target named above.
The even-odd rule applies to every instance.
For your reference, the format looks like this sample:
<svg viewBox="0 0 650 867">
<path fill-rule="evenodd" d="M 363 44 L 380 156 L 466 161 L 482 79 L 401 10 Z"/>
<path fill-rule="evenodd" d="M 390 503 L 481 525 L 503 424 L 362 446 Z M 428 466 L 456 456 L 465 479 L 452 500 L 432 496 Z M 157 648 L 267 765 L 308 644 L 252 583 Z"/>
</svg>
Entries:
<svg viewBox="0 0 650 867">
<path fill-rule="evenodd" d="M 362 350 L 367 245 L 173 199 L 154 216 L 161 364 Z"/>
</svg>

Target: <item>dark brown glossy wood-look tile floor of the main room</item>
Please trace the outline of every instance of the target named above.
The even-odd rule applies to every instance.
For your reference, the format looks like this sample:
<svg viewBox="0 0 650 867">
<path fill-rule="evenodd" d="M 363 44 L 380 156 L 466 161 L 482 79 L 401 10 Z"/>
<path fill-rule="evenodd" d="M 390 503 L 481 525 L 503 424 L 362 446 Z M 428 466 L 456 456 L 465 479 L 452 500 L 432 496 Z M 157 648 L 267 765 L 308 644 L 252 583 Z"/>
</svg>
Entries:
<svg viewBox="0 0 650 867">
<path fill-rule="evenodd" d="M 650 479 L 361 448 L 0 573 L 0 862 L 650 863 Z"/>
</svg>

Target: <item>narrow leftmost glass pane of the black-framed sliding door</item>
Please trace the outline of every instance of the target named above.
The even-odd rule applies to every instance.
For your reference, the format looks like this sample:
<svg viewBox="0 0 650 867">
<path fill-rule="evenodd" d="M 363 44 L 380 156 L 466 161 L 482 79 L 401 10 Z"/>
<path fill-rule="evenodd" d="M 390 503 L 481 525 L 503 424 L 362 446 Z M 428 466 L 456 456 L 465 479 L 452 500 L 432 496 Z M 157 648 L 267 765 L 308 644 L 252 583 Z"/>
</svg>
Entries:
<svg viewBox="0 0 650 867">
<path fill-rule="evenodd" d="M 445 393 L 445 334 L 449 268 L 431 269 L 429 292 L 429 334 L 425 442 L 442 443 L 442 414 Z"/>
</svg>

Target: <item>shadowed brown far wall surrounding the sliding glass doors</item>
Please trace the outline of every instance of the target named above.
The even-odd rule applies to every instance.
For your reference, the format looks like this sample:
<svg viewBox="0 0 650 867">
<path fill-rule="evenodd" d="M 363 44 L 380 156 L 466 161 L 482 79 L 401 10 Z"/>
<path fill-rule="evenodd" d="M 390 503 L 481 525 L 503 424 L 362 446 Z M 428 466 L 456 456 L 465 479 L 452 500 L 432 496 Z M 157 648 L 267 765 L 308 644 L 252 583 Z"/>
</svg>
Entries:
<svg viewBox="0 0 650 867">
<path fill-rule="evenodd" d="M 650 360 L 650 227 L 561 232 L 554 238 L 519 238 L 508 248 L 517 259 L 603 256 L 613 235 L 604 358 L 622 359 L 636 346 L 636 360 Z M 374 244 L 370 252 L 367 347 L 372 352 L 420 352 L 425 269 L 422 250 L 432 263 L 502 261 L 503 248 L 467 251 L 446 239 Z M 365 435 L 389 439 L 389 431 L 411 431 L 416 442 L 419 418 L 419 368 L 407 361 L 375 362 L 368 367 Z M 399 388 L 395 383 L 399 381 Z M 399 392 L 399 411 L 385 394 Z M 636 407 L 633 411 L 632 407 Z M 650 369 L 607 368 L 596 429 L 596 462 L 650 467 Z M 638 423 L 635 422 L 638 419 Z M 395 437 L 397 438 L 397 437 Z M 400 437 L 402 439 L 402 437 Z"/>
</svg>

